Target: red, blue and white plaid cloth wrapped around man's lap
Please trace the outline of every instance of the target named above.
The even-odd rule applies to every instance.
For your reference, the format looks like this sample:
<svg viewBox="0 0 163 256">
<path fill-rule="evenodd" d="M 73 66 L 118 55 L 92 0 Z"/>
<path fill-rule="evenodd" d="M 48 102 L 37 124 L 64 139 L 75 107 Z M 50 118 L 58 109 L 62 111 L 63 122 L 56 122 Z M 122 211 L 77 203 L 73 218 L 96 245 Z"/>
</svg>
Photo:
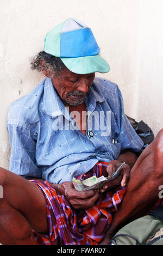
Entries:
<svg viewBox="0 0 163 256">
<path fill-rule="evenodd" d="M 78 178 L 82 180 L 95 174 L 99 177 L 106 172 L 107 165 L 106 162 L 97 163 L 92 170 Z M 49 182 L 31 181 L 40 187 L 46 198 L 49 234 L 34 232 L 39 245 L 98 245 L 127 191 L 127 188 L 118 187 L 101 193 L 92 208 L 75 210 Z"/>
</svg>

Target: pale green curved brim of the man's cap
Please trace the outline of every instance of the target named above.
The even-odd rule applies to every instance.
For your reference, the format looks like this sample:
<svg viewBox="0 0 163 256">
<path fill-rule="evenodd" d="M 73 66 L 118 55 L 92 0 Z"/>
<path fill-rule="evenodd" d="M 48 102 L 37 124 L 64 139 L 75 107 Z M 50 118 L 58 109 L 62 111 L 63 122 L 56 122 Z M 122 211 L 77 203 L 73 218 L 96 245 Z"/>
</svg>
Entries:
<svg viewBox="0 0 163 256">
<path fill-rule="evenodd" d="M 67 69 L 76 74 L 90 74 L 94 72 L 107 73 L 109 64 L 99 54 L 78 58 L 61 58 Z"/>
</svg>

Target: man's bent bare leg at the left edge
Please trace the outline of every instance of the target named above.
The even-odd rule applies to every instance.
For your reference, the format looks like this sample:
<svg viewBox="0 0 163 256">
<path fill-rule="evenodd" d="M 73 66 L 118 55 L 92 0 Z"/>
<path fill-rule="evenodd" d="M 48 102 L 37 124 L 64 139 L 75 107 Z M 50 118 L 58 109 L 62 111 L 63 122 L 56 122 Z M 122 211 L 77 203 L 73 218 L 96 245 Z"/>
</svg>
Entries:
<svg viewBox="0 0 163 256">
<path fill-rule="evenodd" d="M 34 183 L 0 168 L 0 242 L 36 245 L 32 229 L 47 233 L 45 198 Z"/>
</svg>

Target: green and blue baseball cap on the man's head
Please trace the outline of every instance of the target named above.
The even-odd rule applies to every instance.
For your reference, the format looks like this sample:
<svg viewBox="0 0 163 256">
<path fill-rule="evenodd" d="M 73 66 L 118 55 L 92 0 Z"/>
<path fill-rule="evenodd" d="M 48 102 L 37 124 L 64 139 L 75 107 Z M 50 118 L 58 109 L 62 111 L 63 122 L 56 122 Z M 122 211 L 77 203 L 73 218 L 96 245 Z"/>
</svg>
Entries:
<svg viewBox="0 0 163 256">
<path fill-rule="evenodd" d="M 76 74 L 109 72 L 109 64 L 99 55 L 99 47 L 89 27 L 70 18 L 49 31 L 44 51 L 61 58 L 67 69 Z"/>
</svg>

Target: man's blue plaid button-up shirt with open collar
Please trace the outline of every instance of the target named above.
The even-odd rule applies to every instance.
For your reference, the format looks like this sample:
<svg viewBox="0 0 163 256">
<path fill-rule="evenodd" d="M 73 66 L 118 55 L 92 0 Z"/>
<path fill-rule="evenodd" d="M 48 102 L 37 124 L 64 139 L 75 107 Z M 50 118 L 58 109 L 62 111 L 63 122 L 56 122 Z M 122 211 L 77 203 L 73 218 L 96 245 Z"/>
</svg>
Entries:
<svg viewBox="0 0 163 256">
<path fill-rule="evenodd" d="M 86 173 L 98 161 L 118 159 L 125 149 L 136 152 L 143 147 L 124 114 L 122 95 L 115 83 L 95 78 L 85 104 L 88 117 L 86 135 L 83 135 L 55 91 L 51 78 L 13 102 L 7 120 L 10 171 L 27 179 L 35 177 L 61 183 Z M 102 113 L 103 118 L 99 120 L 93 113 Z M 90 120 L 94 122 L 91 128 Z M 89 130 L 91 133 L 87 133 Z"/>
</svg>

